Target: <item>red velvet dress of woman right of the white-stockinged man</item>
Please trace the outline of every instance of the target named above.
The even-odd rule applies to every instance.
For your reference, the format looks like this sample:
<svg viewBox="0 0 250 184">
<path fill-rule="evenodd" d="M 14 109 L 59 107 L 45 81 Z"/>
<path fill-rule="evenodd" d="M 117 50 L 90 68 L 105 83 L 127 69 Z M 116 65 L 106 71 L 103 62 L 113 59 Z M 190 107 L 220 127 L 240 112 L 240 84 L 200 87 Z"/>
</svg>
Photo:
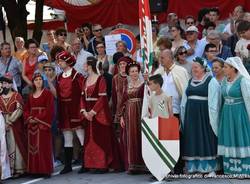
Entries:
<svg viewBox="0 0 250 184">
<path fill-rule="evenodd" d="M 99 77 L 92 86 L 82 91 L 82 110 L 93 110 L 96 115 L 92 122 L 86 122 L 85 128 L 85 168 L 120 169 L 119 148 L 111 126 L 112 117 L 106 94 L 106 83 Z"/>
</svg>

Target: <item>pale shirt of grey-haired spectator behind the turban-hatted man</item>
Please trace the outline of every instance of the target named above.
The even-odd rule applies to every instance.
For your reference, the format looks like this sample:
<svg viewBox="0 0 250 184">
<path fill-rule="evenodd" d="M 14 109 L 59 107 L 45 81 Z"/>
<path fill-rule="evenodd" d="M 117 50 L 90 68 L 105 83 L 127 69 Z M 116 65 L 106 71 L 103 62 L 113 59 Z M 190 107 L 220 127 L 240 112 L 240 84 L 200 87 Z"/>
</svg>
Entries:
<svg viewBox="0 0 250 184">
<path fill-rule="evenodd" d="M 76 64 L 74 66 L 74 69 L 81 73 L 83 76 L 86 76 L 87 73 L 83 70 L 84 64 L 87 62 L 87 57 L 93 56 L 90 52 L 85 51 L 84 49 L 81 49 L 78 55 L 76 56 Z"/>
</svg>

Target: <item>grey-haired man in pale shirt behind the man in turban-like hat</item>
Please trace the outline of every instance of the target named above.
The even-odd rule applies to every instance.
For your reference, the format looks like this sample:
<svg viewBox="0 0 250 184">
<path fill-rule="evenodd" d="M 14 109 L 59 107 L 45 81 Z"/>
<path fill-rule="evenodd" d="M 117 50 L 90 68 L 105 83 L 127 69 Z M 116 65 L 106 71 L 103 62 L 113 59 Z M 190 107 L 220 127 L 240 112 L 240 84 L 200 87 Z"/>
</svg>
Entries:
<svg viewBox="0 0 250 184">
<path fill-rule="evenodd" d="M 76 58 L 76 64 L 74 69 L 81 73 L 84 77 L 86 77 L 87 73 L 83 70 L 83 65 L 87 61 L 87 57 L 93 56 L 90 52 L 85 51 L 83 48 L 81 49 L 81 41 L 79 38 L 75 38 L 72 42 L 72 50 L 73 54 Z"/>
</svg>

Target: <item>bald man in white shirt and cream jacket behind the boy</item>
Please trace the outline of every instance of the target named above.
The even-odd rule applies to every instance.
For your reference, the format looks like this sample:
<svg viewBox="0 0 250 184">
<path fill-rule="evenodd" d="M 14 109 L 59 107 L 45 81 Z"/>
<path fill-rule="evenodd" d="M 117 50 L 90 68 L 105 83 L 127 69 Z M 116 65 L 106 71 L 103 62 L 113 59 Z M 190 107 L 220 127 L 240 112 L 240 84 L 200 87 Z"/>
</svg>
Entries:
<svg viewBox="0 0 250 184">
<path fill-rule="evenodd" d="M 161 53 L 161 65 L 164 67 L 165 72 L 162 74 L 163 86 L 162 90 L 167 96 L 172 96 L 172 107 L 174 116 L 179 118 L 181 97 L 184 92 L 184 88 L 188 83 L 189 75 L 187 70 L 174 63 L 174 57 L 171 50 L 166 49 Z M 181 136 L 180 136 L 181 137 Z M 182 144 L 182 140 L 180 140 Z M 174 168 L 176 174 L 183 172 L 183 161 L 181 160 L 182 149 L 180 150 L 180 158 Z"/>
</svg>

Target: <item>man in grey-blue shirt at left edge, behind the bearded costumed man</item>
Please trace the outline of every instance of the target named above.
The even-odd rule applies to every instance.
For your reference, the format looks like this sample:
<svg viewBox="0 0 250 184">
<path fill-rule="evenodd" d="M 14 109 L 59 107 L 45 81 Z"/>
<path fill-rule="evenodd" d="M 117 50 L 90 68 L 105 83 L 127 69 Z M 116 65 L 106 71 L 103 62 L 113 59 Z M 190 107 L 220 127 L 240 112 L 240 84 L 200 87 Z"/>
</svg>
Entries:
<svg viewBox="0 0 250 184">
<path fill-rule="evenodd" d="M 11 73 L 14 77 L 14 81 L 20 92 L 21 90 L 21 73 L 22 64 L 15 57 L 11 56 L 10 43 L 3 42 L 0 45 L 1 57 L 0 57 L 0 75 L 4 76 L 6 73 Z"/>
</svg>

